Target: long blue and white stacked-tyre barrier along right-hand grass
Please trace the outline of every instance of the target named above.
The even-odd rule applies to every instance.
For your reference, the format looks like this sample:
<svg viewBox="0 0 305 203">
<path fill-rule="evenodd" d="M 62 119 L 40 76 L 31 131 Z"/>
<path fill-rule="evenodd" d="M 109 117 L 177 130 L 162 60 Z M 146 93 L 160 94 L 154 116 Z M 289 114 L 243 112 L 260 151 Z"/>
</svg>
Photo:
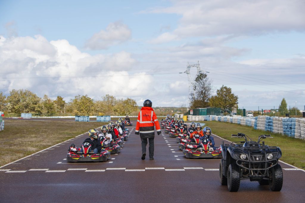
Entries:
<svg viewBox="0 0 305 203">
<path fill-rule="evenodd" d="M 257 116 L 257 117 L 242 117 L 242 116 L 187 116 L 188 121 L 219 121 L 235 123 L 253 127 L 254 129 L 270 131 L 282 135 L 288 135 L 299 139 L 305 139 L 304 118 L 288 118 L 275 116 Z"/>
</svg>

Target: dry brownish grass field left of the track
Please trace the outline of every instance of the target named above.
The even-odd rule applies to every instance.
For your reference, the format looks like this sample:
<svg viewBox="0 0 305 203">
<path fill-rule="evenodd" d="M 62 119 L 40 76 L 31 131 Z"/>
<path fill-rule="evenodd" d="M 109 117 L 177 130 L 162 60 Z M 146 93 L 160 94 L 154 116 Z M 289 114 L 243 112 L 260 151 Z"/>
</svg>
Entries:
<svg viewBox="0 0 305 203">
<path fill-rule="evenodd" d="M 0 131 L 0 166 L 66 141 L 103 122 L 5 120 Z"/>
</svg>

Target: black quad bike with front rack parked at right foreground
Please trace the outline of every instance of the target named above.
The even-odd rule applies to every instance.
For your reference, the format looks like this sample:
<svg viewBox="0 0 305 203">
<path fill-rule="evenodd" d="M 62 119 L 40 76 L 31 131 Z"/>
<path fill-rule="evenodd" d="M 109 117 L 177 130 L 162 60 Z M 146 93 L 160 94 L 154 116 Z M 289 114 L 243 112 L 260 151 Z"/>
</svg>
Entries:
<svg viewBox="0 0 305 203">
<path fill-rule="evenodd" d="M 239 190 L 240 180 L 258 181 L 260 185 L 269 185 L 271 191 L 280 191 L 283 186 L 282 167 L 278 159 L 282 156 L 279 147 L 265 145 L 261 140 L 272 138 L 271 135 L 260 135 L 258 141 L 252 141 L 247 135 L 238 133 L 232 137 L 244 138 L 243 142 L 232 142 L 221 145 L 223 159 L 219 164 L 221 185 L 228 190 Z"/>
</svg>

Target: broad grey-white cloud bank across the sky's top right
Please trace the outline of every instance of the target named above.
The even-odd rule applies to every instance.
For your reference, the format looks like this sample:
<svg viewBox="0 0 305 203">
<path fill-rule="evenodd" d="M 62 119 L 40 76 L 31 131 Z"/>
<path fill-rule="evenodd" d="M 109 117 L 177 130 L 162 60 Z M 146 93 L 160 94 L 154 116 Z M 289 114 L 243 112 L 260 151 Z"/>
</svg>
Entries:
<svg viewBox="0 0 305 203">
<path fill-rule="evenodd" d="M 173 1 L 173 6 L 146 12 L 181 15 L 172 33 L 155 40 L 194 36 L 256 35 L 270 32 L 304 31 L 304 1 L 299 0 L 207 0 Z M 143 12 L 142 12 L 143 13 Z M 170 37 L 167 37 L 170 40 Z"/>
</svg>

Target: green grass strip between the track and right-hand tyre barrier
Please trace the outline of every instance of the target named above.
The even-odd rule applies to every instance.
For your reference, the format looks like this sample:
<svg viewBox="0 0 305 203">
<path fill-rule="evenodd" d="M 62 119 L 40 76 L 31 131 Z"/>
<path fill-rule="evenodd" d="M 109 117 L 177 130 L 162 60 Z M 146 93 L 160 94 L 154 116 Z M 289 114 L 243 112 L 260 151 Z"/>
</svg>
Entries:
<svg viewBox="0 0 305 203">
<path fill-rule="evenodd" d="M 243 141 L 241 138 L 231 138 L 231 134 L 244 133 L 253 141 L 257 141 L 259 135 L 270 134 L 273 138 L 264 139 L 265 144 L 269 146 L 278 146 L 282 150 L 282 158 L 280 160 L 293 166 L 305 169 L 305 141 L 284 136 L 269 131 L 254 130 L 249 126 L 239 124 L 222 123 L 218 121 L 202 121 L 212 129 L 212 133 L 216 134 L 231 142 Z M 219 146 L 221 143 L 216 143 Z"/>
</svg>

